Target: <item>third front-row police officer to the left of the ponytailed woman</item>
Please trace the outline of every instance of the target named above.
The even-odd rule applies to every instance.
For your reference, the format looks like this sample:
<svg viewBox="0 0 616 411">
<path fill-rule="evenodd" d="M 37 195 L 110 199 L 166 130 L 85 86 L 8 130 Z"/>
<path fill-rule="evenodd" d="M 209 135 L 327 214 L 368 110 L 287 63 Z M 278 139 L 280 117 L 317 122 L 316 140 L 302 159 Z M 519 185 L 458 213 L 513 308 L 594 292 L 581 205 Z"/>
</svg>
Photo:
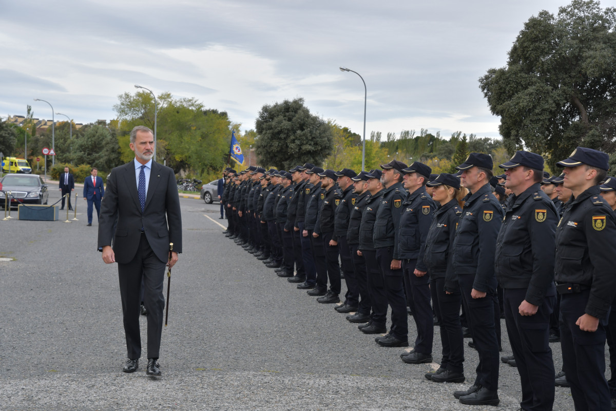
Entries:
<svg viewBox="0 0 616 411">
<path fill-rule="evenodd" d="M 368 177 L 368 192 L 370 197 L 366 199 L 366 206 L 362 213 L 362 222 L 359 227 L 359 251 L 366 262 L 368 295 L 372 303 L 372 317 L 367 324 L 357 326 L 365 334 L 381 334 L 387 331 L 387 296 L 383 276 L 376 259 L 376 248 L 373 240 L 375 230 L 376 213 L 381 206 L 384 186 L 381 182 L 381 170 L 372 169 Z"/>
</svg>

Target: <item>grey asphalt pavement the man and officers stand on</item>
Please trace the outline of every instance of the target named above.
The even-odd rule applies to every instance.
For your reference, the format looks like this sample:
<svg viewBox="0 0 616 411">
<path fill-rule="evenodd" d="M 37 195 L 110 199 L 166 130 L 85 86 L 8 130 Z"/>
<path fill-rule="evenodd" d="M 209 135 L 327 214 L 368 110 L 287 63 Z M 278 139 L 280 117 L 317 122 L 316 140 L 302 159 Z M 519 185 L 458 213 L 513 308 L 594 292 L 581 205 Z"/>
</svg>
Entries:
<svg viewBox="0 0 616 411">
<path fill-rule="evenodd" d="M 54 198 L 59 191 L 51 190 Z M 136 373 L 121 372 L 117 267 L 96 250 L 97 223 L 86 227 L 85 201 L 70 224 L 0 220 L 0 257 L 12 259 L 0 262 L 0 409 L 519 408 L 515 368 L 501 364 L 498 407 L 462 405 L 452 393 L 472 385 L 473 349 L 466 348 L 466 383 L 429 382 L 423 374 L 436 364 L 403 364 L 403 349 L 378 346 L 331 304 L 318 304 L 225 238 L 219 205 L 180 203 L 184 253 L 172 270 L 160 378 L 145 375 L 146 359 Z M 141 324 L 145 345 L 145 317 Z M 409 326 L 413 340 L 411 318 Z M 437 358 L 438 328 L 434 341 Z M 560 346 L 551 346 L 560 370 Z M 510 353 L 504 320 L 503 349 Z M 556 388 L 554 409 L 573 410 L 569 389 Z"/>
</svg>

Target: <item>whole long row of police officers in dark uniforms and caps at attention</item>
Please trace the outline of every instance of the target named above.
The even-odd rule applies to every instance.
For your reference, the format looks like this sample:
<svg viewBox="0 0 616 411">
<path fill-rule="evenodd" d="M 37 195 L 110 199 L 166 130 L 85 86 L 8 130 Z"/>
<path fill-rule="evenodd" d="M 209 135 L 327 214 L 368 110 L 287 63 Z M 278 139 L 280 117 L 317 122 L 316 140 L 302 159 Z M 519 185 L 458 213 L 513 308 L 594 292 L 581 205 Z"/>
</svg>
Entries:
<svg viewBox="0 0 616 411">
<path fill-rule="evenodd" d="M 408 364 L 432 362 L 436 315 L 442 352 L 430 381 L 466 380 L 462 310 L 479 354 L 472 385 L 453 393 L 463 404 L 500 402 L 498 285 L 521 409 L 553 408 L 556 317 L 575 409 L 610 410 L 604 346 L 607 338 L 612 352 L 616 340 L 616 179 L 607 177 L 607 154 L 585 147 L 557 166 L 561 176 L 545 179 L 543 158 L 518 151 L 500 165 L 496 190 L 483 153 L 439 175 L 397 160 L 359 174 L 310 163 L 227 168 L 225 233 L 319 303 L 342 301 L 336 311 L 379 335 L 380 346 L 409 345 L 412 312 L 417 335 L 400 355 Z"/>
</svg>

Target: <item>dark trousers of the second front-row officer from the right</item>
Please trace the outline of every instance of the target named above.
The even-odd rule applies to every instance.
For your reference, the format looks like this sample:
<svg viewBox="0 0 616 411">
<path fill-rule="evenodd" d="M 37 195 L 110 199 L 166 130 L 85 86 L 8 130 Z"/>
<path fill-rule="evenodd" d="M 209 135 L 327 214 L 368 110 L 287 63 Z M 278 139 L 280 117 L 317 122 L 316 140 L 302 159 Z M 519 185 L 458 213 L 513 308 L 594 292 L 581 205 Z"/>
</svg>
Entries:
<svg viewBox="0 0 616 411">
<path fill-rule="evenodd" d="M 556 294 L 546 296 L 537 314 L 520 315 L 526 288 L 505 288 L 503 308 L 509 343 L 522 384 L 523 410 L 551 410 L 554 405 L 554 360 L 549 348 L 549 317 Z M 567 376 L 568 378 L 569 376 Z"/>
</svg>

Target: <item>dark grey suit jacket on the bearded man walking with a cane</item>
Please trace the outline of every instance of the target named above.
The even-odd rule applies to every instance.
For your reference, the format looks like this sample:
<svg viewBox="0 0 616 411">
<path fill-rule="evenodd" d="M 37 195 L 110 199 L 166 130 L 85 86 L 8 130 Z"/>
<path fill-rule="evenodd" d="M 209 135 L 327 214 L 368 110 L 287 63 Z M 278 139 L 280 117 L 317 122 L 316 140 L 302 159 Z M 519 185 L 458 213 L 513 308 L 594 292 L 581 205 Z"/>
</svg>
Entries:
<svg viewBox="0 0 616 411">
<path fill-rule="evenodd" d="M 168 261 L 169 243 L 173 243 L 173 251 L 182 252 L 182 215 L 176 177 L 171 168 L 154 161 L 143 214 L 134 161 L 111 170 L 100 203 L 99 250 L 112 245 L 116 262 L 131 262 L 137 253 L 141 227 L 160 261 Z"/>
</svg>

